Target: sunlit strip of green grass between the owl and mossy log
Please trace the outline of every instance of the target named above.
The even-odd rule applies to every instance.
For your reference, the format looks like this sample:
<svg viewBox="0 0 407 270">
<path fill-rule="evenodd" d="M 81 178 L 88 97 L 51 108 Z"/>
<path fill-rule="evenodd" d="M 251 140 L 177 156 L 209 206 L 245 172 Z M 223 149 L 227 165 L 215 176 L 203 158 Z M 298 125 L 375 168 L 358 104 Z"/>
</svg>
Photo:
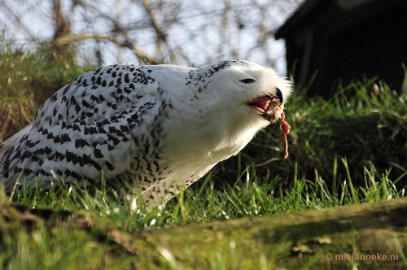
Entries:
<svg viewBox="0 0 407 270">
<path fill-rule="evenodd" d="M 340 164 L 349 170 L 346 159 Z M 36 188 L 13 194 L 10 201 L 33 207 L 51 207 L 70 211 L 86 210 L 107 217 L 122 229 L 138 230 L 145 227 L 207 222 L 211 220 L 272 215 L 286 211 L 318 209 L 349 204 L 375 202 L 403 197 L 407 183 L 397 188 L 407 173 L 395 179 L 389 172 L 379 175 L 374 167 L 363 168 L 364 185 L 356 186 L 350 173 L 334 185 L 321 176 L 313 179 L 295 178 L 285 187 L 281 178 L 265 184 L 258 178 L 255 166 L 249 165 L 232 185 L 216 188 L 213 176 L 208 175 L 196 188 L 186 189 L 164 206 L 150 213 L 134 207 L 131 193 L 96 188 L 91 193 L 75 185 L 60 185 L 47 191 Z"/>
</svg>

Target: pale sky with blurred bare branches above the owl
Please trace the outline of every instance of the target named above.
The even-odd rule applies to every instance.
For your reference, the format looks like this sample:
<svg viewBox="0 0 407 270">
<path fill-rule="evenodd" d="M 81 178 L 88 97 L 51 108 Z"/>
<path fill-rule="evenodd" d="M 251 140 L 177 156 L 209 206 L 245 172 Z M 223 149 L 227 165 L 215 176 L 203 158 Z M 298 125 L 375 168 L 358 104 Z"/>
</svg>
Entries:
<svg viewBox="0 0 407 270">
<path fill-rule="evenodd" d="M 2 0 L 0 30 L 15 44 L 75 50 L 80 64 L 199 66 L 248 59 L 285 73 L 278 27 L 302 0 Z"/>
</svg>

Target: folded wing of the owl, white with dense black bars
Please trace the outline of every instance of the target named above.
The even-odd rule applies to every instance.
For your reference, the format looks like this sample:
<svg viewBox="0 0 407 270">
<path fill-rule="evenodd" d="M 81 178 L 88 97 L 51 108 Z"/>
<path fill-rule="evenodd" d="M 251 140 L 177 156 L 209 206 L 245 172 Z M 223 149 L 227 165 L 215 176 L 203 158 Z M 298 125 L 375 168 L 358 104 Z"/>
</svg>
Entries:
<svg viewBox="0 0 407 270">
<path fill-rule="evenodd" d="M 102 172 L 107 178 L 120 174 L 160 135 L 158 116 L 168 102 L 149 72 L 108 66 L 61 88 L 31 125 L 0 146 L 0 182 L 94 182 Z"/>
</svg>

